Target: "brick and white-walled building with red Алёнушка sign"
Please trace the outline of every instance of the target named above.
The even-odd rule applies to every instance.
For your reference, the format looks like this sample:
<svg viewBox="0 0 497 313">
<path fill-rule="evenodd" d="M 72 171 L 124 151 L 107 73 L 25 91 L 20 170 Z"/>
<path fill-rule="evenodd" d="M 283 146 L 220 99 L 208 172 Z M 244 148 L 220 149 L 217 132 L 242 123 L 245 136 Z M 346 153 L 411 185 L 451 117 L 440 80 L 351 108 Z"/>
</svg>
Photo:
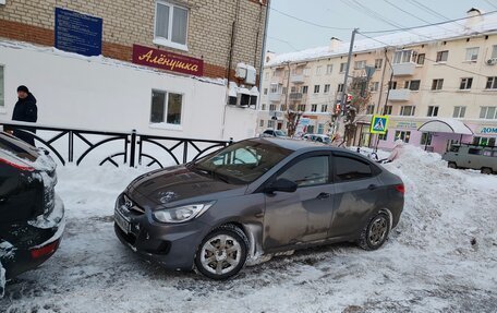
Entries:
<svg viewBox="0 0 497 313">
<path fill-rule="evenodd" d="M 0 119 L 27 85 L 43 124 L 251 136 L 266 17 L 266 0 L 0 1 Z"/>
</svg>

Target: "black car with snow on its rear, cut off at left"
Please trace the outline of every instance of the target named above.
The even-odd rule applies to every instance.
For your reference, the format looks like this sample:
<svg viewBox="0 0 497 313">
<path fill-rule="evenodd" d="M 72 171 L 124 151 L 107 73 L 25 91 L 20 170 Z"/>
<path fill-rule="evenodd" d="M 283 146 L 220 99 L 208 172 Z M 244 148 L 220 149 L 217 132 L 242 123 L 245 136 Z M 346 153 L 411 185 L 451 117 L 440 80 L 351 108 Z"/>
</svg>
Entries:
<svg viewBox="0 0 497 313">
<path fill-rule="evenodd" d="M 65 222 L 56 183 L 50 156 L 0 133 L 0 263 L 7 278 L 37 267 L 59 248 Z"/>
</svg>

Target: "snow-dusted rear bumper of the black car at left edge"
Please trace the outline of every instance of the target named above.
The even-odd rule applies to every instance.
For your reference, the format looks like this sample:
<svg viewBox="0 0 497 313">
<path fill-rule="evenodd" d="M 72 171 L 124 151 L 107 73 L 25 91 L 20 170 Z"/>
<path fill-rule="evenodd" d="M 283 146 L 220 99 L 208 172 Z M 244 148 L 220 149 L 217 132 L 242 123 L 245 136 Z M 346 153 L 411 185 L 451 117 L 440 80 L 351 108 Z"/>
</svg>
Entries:
<svg viewBox="0 0 497 313">
<path fill-rule="evenodd" d="M 3 253 L 0 250 L 0 262 L 7 270 L 7 278 L 34 269 L 50 258 L 59 249 L 64 229 L 64 206 L 58 196 L 52 213 L 44 220 L 13 226 L 10 236 L 2 237 L 11 248 Z"/>
</svg>

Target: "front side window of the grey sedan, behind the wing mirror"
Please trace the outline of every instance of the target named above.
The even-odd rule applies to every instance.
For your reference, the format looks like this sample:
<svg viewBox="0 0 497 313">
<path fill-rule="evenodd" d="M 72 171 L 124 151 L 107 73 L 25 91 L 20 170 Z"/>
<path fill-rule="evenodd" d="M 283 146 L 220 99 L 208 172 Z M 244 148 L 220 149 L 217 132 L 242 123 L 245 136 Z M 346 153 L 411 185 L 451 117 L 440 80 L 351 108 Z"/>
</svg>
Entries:
<svg viewBox="0 0 497 313">
<path fill-rule="evenodd" d="M 288 179 L 299 186 L 324 184 L 329 181 L 328 156 L 308 157 L 298 161 L 278 176 Z"/>
</svg>

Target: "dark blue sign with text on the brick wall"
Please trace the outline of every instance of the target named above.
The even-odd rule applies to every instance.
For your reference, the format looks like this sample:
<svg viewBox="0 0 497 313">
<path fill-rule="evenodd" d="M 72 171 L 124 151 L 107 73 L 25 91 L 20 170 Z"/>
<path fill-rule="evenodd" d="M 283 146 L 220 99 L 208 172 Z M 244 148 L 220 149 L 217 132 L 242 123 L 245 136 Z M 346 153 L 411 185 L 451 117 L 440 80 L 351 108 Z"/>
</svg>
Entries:
<svg viewBox="0 0 497 313">
<path fill-rule="evenodd" d="M 101 55 L 102 20 L 56 8 L 56 48 L 92 57 Z"/>
</svg>

